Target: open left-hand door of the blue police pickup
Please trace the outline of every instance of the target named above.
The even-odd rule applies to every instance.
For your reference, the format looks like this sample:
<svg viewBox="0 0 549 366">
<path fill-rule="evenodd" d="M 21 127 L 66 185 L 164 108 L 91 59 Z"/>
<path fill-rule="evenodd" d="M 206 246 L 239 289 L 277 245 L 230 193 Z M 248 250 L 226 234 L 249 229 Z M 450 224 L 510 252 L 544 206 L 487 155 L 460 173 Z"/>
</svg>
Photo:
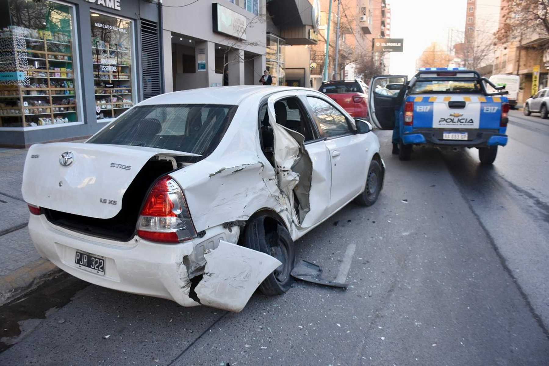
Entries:
<svg viewBox="0 0 549 366">
<path fill-rule="evenodd" d="M 399 92 L 405 88 L 408 77 L 405 75 L 380 75 L 372 77 L 368 93 L 368 114 L 379 129 L 392 130 L 395 127 L 395 107 L 404 101 Z M 399 87 L 401 85 L 401 87 Z"/>
</svg>

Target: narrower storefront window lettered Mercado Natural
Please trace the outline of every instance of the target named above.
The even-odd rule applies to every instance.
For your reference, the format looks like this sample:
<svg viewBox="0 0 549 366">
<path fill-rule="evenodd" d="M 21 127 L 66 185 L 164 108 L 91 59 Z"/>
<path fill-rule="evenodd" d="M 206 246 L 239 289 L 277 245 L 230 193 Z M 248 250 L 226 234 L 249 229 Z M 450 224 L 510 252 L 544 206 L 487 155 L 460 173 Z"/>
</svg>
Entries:
<svg viewBox="0 0 549 366">
<path fill-rule="evenodd" d="M 133 106 L 133 22 L 91 13 L 97 120 L 116 118 Z"/>
</svg>

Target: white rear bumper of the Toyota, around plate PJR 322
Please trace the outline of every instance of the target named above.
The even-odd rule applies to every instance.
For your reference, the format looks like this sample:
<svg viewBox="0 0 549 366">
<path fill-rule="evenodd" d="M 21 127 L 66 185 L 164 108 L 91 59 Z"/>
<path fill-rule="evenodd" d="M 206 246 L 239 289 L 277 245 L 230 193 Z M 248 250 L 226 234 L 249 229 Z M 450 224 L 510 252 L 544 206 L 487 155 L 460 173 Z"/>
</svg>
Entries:
<svg viewBox="0 0 549 366">
<path fill-rule="evenodd" d="M 219 240 L 236 242 L 238 239 L 238 230 L 233 229 L 231 234 L 222 226 L 216 226 L 202 238 L 176 245 L 154 243 L 138 237 L 130 242 L 118 242 L 60 228 L 49 223 L 45 215 L 32 214 L 29 231 L 42 257 L 77 278 L 109 289 L 166 298 L 182 306 L 200 304 L 189 297 L 191 281 L 183 257 L 193 257 L 195 246 L 213 248 L 214 242 Z M 105 257 L 105 274 L 98 275 L 77 267 L 76 250 Z"/>
</svg>

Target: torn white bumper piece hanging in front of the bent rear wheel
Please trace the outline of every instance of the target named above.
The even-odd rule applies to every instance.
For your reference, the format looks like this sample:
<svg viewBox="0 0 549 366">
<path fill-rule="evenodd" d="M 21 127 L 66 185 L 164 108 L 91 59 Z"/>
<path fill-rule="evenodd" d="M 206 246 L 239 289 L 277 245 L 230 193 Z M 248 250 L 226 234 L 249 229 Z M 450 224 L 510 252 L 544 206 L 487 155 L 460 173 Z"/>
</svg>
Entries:
<svg viewBox="0 0 549 366">
<path fill-rule="evenodd" d="M 200 303 L 232 312 L 240 312 L 257 286 L 282 265 L 268 254 L 223 240 L 204 258 L 204 276 L 195 288 Z"/>
</svg>

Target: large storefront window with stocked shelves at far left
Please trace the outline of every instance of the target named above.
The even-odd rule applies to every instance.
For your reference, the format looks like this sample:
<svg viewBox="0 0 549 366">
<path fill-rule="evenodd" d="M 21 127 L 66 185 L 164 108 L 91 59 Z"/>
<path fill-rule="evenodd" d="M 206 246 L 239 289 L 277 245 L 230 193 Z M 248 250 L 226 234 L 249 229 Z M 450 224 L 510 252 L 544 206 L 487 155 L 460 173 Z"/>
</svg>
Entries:
<svg viewBox="0 0 549 366">
<path fill-rule="evenodd" d="M 78 120 L 73 8 L 54 1 L 0 2 L 0 127 Z"/>
</svg>

